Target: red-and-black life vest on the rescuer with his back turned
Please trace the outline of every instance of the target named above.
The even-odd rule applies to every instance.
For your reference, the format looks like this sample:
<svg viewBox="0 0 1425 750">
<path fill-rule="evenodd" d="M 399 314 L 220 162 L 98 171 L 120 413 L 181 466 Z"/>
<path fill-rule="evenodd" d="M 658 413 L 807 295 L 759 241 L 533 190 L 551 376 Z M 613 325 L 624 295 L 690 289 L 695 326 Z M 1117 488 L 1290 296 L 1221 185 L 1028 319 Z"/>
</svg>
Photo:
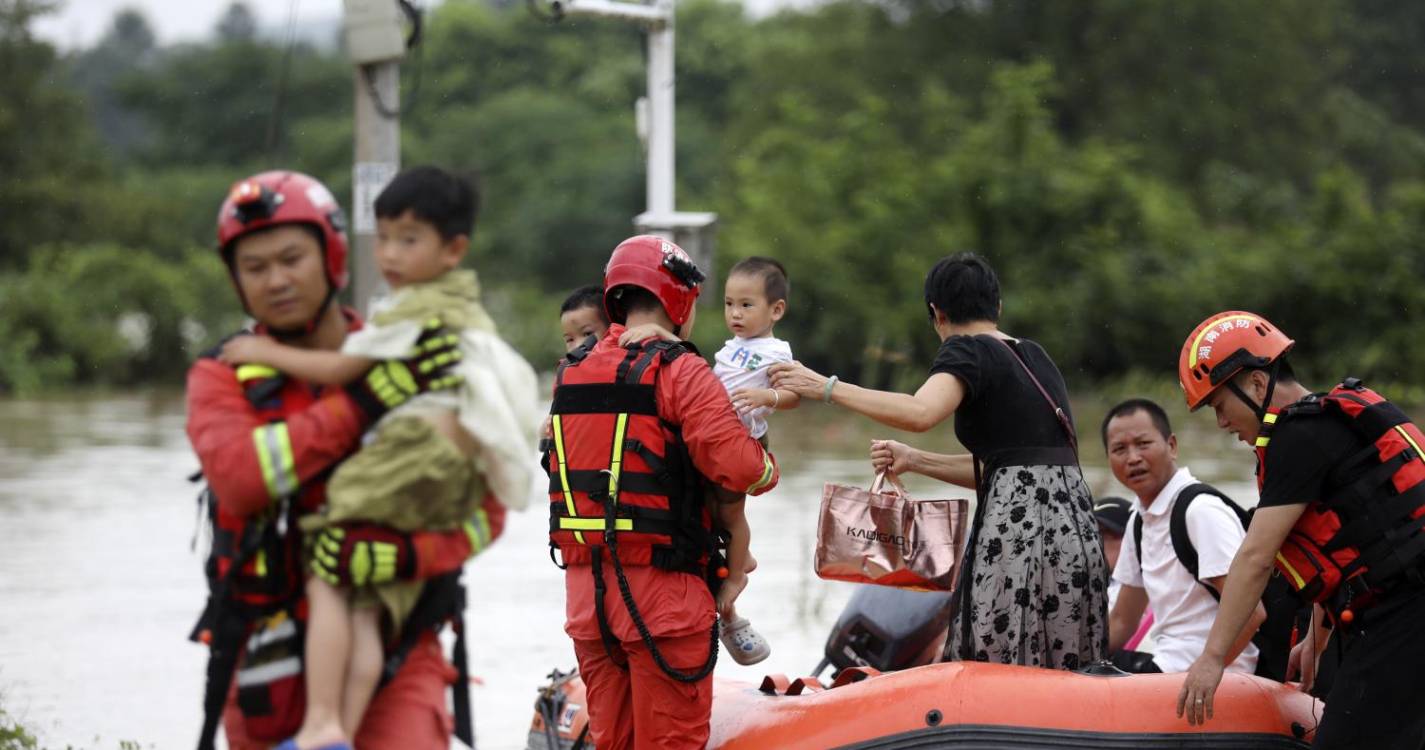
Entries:
<svg viewBox="0 0 1425 750">
<path fill-rule="evenodd" d="M 549 539 L 564 565 L 613 546 L 623 565 L 704 573 L 714 539 L 701 478 L 657 401 L 663 368 L 688 351 L 654 341 L 596 352 L 590 341 L 560 362 L 544 462 Z"/>
</svg>

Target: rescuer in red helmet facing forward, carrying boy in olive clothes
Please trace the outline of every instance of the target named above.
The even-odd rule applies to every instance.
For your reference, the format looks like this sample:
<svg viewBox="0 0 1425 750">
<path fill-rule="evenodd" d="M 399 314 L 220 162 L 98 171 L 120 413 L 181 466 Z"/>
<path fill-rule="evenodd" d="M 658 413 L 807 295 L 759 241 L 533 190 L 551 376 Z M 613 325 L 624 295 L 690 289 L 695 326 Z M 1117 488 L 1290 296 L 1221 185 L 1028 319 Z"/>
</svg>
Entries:
<svg viewBox="0 0 1425 750">
<path fill-rule="evenodd" d="M 218 212 L 218 251 L 254 332 L 312 349 L 339 349 L 361 319 L 336 302 L 348 281 L 341 207 L 316 180 L 269 171 L 238 181 Z M 452 385 L 459 351 L 442 331 L 408 359 L 378 362 L 346 386 L 314 386 L 261 365 L 225 365 L 217 349 L 188 371 L 188 438 L 208 483 L 212 549 L 208 606 L 192 637 L 211 649 L 200 747 L 217 724 L 228 747 L 258 749 L 302 720 L 301 623 L 305 619 L 301 529 L 318 510 L 331 469 L 359 446 L 379 416 L 416 394 Z M 333 526 L 314 560 L 349 585 L 452 579 L 500 532 L 502 515 L 449 532 L 399 533 Z M 261 637 L 254 637 L 261 635 Z M 446 687 L 455 670 L 432 629 L 390 654 L 395 676 L 376 694 L 361 747 L 447 747 Z"/>
</svg>

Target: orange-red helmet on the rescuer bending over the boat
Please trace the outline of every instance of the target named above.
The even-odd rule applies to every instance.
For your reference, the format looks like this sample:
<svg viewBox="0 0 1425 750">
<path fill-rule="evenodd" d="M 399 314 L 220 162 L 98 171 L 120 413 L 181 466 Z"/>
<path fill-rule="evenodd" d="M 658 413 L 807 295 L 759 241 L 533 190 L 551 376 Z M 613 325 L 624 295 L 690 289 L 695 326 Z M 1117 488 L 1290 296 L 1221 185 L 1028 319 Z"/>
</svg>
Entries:
<svg viewBox="0 0 1425 750">
<path fill-rule="evenodd" d="M 1177 382 L 1187 408 L 1206 404 L 1213 391 L 1238 372 L 1275 362 L 1292 344 L 1295 341 L 1255 312 L 1231 309 L 1200 322 L 1177 358 Z"/>
</svg>

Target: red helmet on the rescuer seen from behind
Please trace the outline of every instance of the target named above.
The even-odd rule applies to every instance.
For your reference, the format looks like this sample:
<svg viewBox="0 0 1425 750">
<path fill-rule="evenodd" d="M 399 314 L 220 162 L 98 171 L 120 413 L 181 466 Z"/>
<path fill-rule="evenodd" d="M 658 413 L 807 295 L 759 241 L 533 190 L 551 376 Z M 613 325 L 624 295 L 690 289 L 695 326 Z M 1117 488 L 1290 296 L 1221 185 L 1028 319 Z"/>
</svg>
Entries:
<svg viewBox="0 0 1425 750">
<path fill-rule="evenodd" d="M 683 325 L 693 315 L 704 278 L 678 245 L 651 234 L 630 237 L 618 242 L 604 267 L 604 311 L 610 321 L 624 322 L 627 312 L 618 302 L 618 287 L 638 287 L 663 302 L 673 325 Z"/>
</svg>

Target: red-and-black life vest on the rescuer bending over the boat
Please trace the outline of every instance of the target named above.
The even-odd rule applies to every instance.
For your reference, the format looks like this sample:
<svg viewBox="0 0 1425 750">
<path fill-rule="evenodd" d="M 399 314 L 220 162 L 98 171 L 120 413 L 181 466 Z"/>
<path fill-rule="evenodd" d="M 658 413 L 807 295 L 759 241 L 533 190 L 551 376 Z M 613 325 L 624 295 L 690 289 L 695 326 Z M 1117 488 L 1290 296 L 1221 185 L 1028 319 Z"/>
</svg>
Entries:
<svg viewBox="0 0 1425 750">
<path fill-rule="evenodd" d="M 1331 469 L 1327 496 L 1312 498 L 1277 553 L 1298 595 L 1351 622 L 1395 585 L 1421 583 L 1425 562 L 1425 435 L 1398 406 L 1348 378 L 1268 413 L 1257 439 L 1258 488 L 1271 432 L 1290 419 L 1345 421 L 1364 448 Z"/>
</svg>

